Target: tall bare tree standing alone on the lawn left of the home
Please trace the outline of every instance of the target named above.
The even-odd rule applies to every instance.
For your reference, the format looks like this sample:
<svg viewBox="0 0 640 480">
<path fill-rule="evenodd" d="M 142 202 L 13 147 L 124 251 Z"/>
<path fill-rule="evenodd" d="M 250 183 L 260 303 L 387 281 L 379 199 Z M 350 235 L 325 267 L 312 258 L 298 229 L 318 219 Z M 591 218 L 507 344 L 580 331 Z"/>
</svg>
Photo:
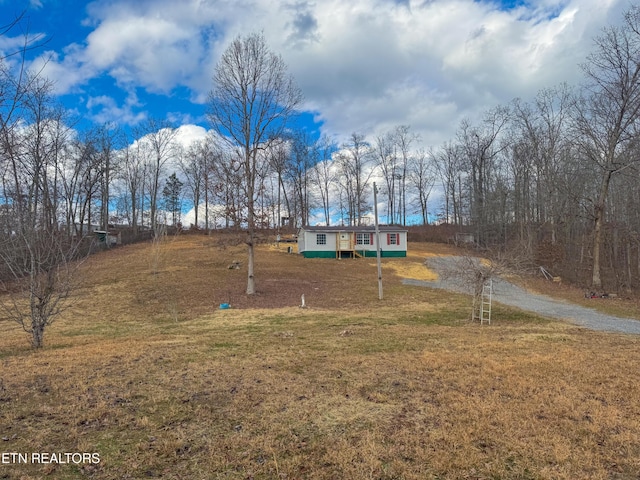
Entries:
<svg viewBox="0 0 640 480">
<path fill-rule="evenodd" d="M 262 34 L 236 37 L 218 62 L 209 94 L 213 128 L 242 154 L 247 210 L 247 294 L 256 293 L 256 185 L 259 152 L 281 136 L 302 101 L 280 55 Z"/>
</svg>

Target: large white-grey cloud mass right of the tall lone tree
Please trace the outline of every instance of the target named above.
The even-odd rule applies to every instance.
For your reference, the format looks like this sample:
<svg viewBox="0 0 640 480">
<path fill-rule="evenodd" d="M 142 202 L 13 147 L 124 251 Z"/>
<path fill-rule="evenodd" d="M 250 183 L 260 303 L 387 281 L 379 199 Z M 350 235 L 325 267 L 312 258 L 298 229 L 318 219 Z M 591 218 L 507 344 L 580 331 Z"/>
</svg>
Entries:
<svg viewBox="0 0 640 480">
<path fill-rule="evenodd" d="M 395 123 L 450 135 L 464 116 L 577 82 L 577 64 L 612 8 L 593 7 L 326 1 L 313 11 L 317 41 L 292 45 L 276 27 L 267 33 L 330 132 L 379 133 Z"/>
</svg>

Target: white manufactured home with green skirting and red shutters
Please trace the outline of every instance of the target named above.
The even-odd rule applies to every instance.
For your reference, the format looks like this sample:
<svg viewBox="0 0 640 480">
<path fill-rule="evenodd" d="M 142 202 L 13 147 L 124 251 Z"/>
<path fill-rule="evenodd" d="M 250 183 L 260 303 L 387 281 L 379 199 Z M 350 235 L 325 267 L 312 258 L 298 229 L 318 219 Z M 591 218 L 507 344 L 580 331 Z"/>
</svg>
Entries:
<svg viewBox="0 0 640 480">
<path fill-rule="evenodd" d="M 302 227 L 298 253 L 305 258 L 375 257 L 378 244 L 382 257 L 407 256 L 407 230 L 398 225 Z"/>
</svg>

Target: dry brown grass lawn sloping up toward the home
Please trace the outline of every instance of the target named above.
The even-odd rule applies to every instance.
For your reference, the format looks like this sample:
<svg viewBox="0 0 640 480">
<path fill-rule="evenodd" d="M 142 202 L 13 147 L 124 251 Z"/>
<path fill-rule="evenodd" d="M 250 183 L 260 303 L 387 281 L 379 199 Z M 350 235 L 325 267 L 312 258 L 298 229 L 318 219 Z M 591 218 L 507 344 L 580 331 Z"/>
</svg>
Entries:
<svg viewBox="0 0 640 480">
<path fill-rule="evenodd" d="M 638 478 L 637 337 L 468 323 L 465 297 L 395 275 L 427 245 L 384 262 L 383 301 L 369 260 L 265 245 L 246 298 L 244 249 L 219 241 L 92 257 L 43 351 L 0 323 L 0 453 L 101 459 L 0 478 Z"/>
</svg>

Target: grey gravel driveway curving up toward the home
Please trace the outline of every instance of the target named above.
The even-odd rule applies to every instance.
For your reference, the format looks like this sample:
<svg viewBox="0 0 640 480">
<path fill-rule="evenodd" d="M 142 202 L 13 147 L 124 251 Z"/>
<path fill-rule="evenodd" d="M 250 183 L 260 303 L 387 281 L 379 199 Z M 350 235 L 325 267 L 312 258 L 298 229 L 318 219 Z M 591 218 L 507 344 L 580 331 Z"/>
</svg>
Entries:
<svg viewBox="0 0 640 480">
<path fill-rule="evenodd" d="M 447 268 L 451 268 L 452 264 L 458 261 L 458 259 L 459 257 L 433 257 L 429 258 L 426 264 L 429 268 L 442 274 Z M 464 291 L 463 288 L 454 282 L 442 279 L 435 282 L 404 279 L 403 283 L 406 285 L 443 288 L 446 290 L 470 293 Z M 546 295 L 530 293 L 504 279 L 494 279 L 493 300 L 545 317 L 565 320 L 591 330 L 640 335 L 640 321 L 636 319 L 606 315 L 591 308 L 573 305 L 563 300 L 547 297 Z"/>
</svg>

